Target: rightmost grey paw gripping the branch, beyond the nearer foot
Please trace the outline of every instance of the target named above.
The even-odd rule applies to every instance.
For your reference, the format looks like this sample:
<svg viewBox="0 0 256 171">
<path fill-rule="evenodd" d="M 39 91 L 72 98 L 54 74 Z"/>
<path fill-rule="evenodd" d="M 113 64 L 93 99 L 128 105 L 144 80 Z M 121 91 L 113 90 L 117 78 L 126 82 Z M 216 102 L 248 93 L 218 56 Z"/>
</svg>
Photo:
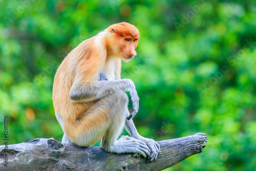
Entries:
<svg viewBox="0 0 256 171">
<path fill-rule="evenodd" d="M 147 157 L 147 162 L 152 162 L 154 159 L 157 159 L 157 156 L 160 154 L 160 145 L 155 140 L 142 136 L 136 139 L 144 142 L 151 149 L 150 156 Z M 133 156 L 140 157 L 140 154 L 135 153 Z"/>
</svg>

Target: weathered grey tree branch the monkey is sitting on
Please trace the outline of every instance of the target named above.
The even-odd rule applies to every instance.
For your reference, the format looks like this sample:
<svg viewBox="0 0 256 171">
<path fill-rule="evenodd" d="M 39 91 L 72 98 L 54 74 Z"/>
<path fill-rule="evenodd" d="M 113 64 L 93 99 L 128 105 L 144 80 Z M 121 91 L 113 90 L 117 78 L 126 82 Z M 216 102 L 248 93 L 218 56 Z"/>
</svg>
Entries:
<svg viewBox="0 0 256 171">
<path fill-rule="evenodd" d="M 111 154 L 101 147 L 61 144 L 53 138 L 37 138 L 26 143 L 0 145 L 0 170 L 162 170 L 202 152 L 207 137 L 203 133 L 158 141 L 157 161 L 147 163 L 132 154 Z M 4 166 L 8 154 L 8 164 Z"/>
</svg>

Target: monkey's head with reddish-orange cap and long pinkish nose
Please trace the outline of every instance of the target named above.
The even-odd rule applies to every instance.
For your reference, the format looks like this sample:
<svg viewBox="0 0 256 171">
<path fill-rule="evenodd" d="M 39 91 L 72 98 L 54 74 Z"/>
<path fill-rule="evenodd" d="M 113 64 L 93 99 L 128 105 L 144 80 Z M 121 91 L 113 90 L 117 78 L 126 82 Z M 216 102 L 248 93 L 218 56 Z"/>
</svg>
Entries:
<svg viewBox="0 0 256 171">
<path fill-rule="evenodd" d="M 106 30 L 109 36 L 109 48 L 113 54 L 128 62 L 137 55 L 135 49 L 140 38 L 139 30 L 129 23 L 117 23 Z"/>
</svg>

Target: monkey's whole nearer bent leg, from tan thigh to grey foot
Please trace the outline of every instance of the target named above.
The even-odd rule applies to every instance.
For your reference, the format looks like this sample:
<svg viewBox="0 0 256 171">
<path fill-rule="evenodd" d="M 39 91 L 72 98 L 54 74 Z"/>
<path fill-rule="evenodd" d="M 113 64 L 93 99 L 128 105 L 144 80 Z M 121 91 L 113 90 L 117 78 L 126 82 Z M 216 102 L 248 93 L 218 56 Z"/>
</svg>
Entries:
<svg viewBox="0 0 256 171">
<path fill-rule="evenodd" d="M 126 120 L 127 103 L 128 97 L 122 90 L 106 95 L 76 121 L 65 123 L 65 133 L 79 146 L 90 146 L 104 137 L 102 147 L 107 152 L 138 153 L 144 157 L 149 156 L 150 148 L 140 140 L 123 137 L 117 141 Z"/>
</svg>

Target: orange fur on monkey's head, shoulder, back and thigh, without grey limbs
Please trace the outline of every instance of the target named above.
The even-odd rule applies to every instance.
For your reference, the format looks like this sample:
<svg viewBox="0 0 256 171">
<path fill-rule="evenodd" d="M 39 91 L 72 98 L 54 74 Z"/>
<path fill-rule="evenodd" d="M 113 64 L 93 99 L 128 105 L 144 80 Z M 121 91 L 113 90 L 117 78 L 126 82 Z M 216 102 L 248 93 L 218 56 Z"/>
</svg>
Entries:
<svg viewBox="0 0 256 171">
<path fill-rule="evenodd" d="M 115 34 L 111 33 L 112 29 Z M 114 72 L 116 79 L 121 79 L 121 59 L 129 60 L 126 55 L 134 54 L 138 45 L 137 40 L 128 44 L 124 41 L 125 38 L 139 39 L 138 29 L 124 22 L 111 25 L 98 35 L 82 41 L 57 69 L 53 83 L 54 110 L 65 120 L 63 131 L 73 142 L 80 135 L 93 132 L 95 126 L 108 126 L 110 121 L 107 109 L 95 113 L 90 111 L 98 100 L 72 101 L 69 98 L 72 84 L 74 81 L 79 84 L 93 83 L 97 81 L 102 69 L 107 74 Z M 114 61 L 114 67 L 111 60 Z M 79 119 L 84 117 L 86 119 Z M 99 133 L 96 139 L 103 135 L 104 133 Z M 89 142 L 89 145 L 92 143 L 95 142 Z"/>
</svg>

